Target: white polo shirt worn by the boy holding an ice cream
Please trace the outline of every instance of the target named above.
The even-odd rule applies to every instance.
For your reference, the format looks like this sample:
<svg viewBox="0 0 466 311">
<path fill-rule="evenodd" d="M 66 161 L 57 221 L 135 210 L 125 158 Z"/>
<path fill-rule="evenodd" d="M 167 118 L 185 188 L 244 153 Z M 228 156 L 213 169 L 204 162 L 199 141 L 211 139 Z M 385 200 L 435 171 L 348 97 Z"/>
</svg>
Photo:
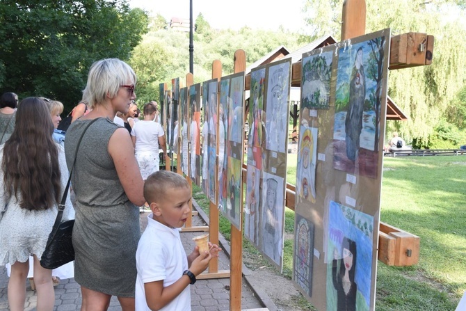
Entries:
<svg viewBox="0 0 466 311">
<path fill-rule="evenodd" d="M 179 229 L 171 229 L 154 221 L 152 215 L 147 216 L 147 228 L 140 237 L 136 250 L 136 311 L 150 311 L 145 300 L 144 283 L 163 280 L 163 287 L 168 287 L 188 269 L 188 257 L 179 237 Z M 189 287 L 188 285 L 161 310 L 191 310 Z"/>
</svg>

